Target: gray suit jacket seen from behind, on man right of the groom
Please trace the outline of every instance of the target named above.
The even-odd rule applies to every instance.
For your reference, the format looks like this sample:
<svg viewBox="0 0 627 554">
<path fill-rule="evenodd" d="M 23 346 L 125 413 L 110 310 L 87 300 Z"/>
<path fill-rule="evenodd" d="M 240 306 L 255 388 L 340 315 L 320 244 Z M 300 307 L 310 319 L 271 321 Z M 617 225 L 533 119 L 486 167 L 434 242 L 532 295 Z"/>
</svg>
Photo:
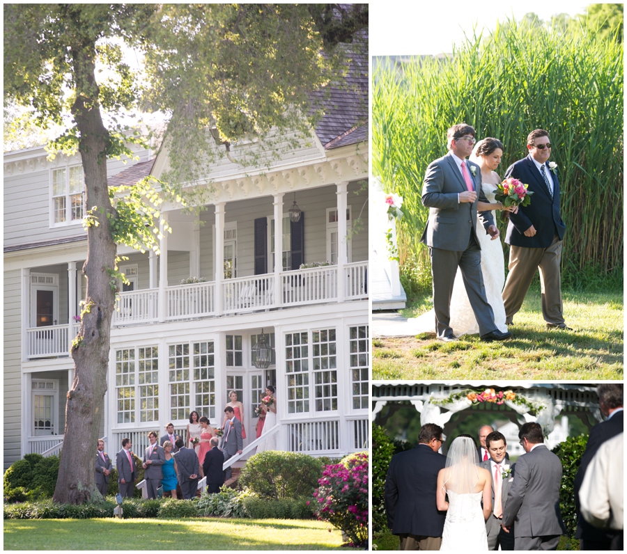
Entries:
<svg viewBox="0 0 627 554">
<path fill-rule="evenodd" d="M 516 460 L 516 475 L 507 495 L 503 525 L 516 522 L 514 537 L 564 535 L 559 511 L 562 462 L 545 445 Z"/>
</svg>

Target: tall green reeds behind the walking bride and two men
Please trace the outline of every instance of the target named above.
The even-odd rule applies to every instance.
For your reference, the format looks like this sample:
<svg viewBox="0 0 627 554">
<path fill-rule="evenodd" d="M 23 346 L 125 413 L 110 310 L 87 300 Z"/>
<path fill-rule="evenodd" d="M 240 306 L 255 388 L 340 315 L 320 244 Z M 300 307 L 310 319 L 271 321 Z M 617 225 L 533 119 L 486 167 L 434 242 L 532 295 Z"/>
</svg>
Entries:
<svg viewBox="0 0 627 554">
<path fill-rule="evenodd" d="M 419 243 L 428 164 L 446 154 L 458 122 L 495 136 L 506 168 L 527 155 L 527 134 L 550 133 L 566 222 L 564 271 L 623 265 L 623 48 L 585 29 L 549 32 L 507 22 L 467 38 L 448 58 L 381 64 L 373 73 L 373 174 L 404 198 L 401 268 L 430 271 Z M 495 212 L 496 213 L 496 212 Z M 504 236 L 506 223 L 499 219 Z M 378 231 L 375 231 L 378 232 Z M 402 269 L 401 269 L 402 271 Z"/>
</svg>

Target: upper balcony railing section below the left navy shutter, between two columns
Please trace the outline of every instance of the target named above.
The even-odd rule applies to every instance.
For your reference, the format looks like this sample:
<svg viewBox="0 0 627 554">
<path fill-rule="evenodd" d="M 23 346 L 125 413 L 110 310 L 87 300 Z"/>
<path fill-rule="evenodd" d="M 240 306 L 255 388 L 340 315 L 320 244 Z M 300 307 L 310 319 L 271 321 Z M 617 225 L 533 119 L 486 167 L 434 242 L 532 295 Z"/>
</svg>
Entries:
<svg viewBox="0 0 627 554">
<path fill-rule="evenodd" d="M 274 305 L 274 276 L 238 277 L 222 282 L 224 313 L 251 312 Z"/>
</svg>

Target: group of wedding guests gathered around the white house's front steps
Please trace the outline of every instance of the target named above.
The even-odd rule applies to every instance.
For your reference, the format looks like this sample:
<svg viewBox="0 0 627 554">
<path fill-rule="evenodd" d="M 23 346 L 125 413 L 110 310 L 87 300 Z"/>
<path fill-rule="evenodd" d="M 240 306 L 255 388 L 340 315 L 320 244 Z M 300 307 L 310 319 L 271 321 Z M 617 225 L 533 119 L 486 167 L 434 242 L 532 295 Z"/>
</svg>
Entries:
<svg viewBox="0 0 627 554">
<path fill-rule="evenodd" d="M 265 395 L 274 397 L 274 388 L 268 386 Z M 198 412 L 192 411 L 185 428 L 185 440 L 174 432 L 173 423 L 168 423 L 166 433 L 160 438 L 154 431 L 148 433 L 150 444 L 142 460 L 148 498 L 157 498 L 157 489 L 160 487 L 163 496 L 193 498 L 198 482 L 203 477 L 206 477 L 208 493 L 217 493 L 220 486 L 231 478 L 231 468 L 223 470 L 222 466 L 231 457 L 242 453 L 246 431 L 243 425 L 244 406 L 235 390 L 229 393 L 229 398 L 231 401 L 224 408 L 222 427 L 211 427 L 208 418 L 199 417 Z M 256 438 L 263 434 L 263 424 L 269 410 L 276 414 L 275 405 L 267 406 L 261 402 Z M 111 468 L 111 459 L 104 452 L 104 441 L 99 440 L 95 472 L 96 485 L 102 496 L 107 494 Z M 137 466 L 130 438 L 122 439 L 122 448 L 116 454 L 116 468 L 118 491 L 123 497 L 131 498 L 137 482 Z"/>
</svg>

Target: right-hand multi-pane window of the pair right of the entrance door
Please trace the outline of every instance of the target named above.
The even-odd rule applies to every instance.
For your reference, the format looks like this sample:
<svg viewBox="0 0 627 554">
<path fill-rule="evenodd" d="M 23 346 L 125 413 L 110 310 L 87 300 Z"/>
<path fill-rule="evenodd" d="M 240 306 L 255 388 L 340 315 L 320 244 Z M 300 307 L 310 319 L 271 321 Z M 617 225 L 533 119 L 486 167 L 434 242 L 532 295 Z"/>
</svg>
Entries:
<svg viewBox="0 0 627 554">
<path fill-rule="evenodd" d="M 316 411 L 337 409 L 337 356 L 335 329 L 311 333 Z"/>
</svg>

